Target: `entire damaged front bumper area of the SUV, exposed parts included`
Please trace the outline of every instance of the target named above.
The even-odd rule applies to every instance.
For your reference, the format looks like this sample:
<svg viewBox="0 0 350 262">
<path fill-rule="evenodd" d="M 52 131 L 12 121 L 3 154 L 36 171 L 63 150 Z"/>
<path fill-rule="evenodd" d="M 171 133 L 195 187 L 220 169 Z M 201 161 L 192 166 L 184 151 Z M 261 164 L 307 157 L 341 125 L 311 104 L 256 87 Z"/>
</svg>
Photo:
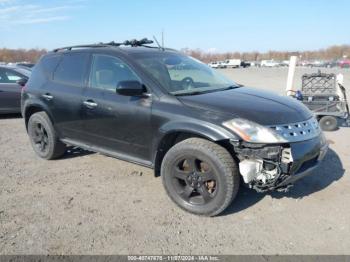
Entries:
<svg viewBox="0 0 350 262">
<path fill-rule="evenodd" d="M 243 181 L 258 192 L 287 190 L 312 173 L 326 155 L 324 135 L 287 144 L 252 144 L 231 141 Z"/>
</svg>

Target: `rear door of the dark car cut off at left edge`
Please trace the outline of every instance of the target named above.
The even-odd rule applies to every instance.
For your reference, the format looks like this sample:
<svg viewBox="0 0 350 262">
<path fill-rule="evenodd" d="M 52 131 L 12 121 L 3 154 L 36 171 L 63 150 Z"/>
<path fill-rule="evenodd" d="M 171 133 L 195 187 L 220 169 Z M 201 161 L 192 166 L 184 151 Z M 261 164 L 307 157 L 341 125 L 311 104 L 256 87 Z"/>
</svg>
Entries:
<svg viewBox="0 0 350 262">
<path fill-rule="evenodd" d="M 20 112 L 21 86 L 17 80 L 25 76 L 9 68 L 0 68 L 0 110 Z"/>
</svg>

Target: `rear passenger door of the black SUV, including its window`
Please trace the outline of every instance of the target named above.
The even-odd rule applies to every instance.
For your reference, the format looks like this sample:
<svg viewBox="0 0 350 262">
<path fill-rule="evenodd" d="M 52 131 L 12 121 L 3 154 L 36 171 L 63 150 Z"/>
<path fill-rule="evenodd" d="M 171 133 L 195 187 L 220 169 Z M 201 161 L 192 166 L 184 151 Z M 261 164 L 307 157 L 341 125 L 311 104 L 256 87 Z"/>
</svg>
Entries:
<svg viewBox="0 0 350 262">
<path fill-rule="evenodd" d="M 49 107 L 60 137 L 81 140 L 81 99 L 90 55 L 71 51 L 61 56 L 52 80 L 41 90 L 41 99 Z"/>
</svg>

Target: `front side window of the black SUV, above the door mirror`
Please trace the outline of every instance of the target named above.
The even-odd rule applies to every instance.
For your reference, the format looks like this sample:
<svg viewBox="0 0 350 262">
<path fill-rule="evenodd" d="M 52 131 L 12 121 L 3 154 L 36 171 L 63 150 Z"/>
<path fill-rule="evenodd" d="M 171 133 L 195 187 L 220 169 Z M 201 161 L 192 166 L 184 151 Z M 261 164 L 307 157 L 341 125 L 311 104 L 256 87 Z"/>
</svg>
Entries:
<svg viewBox="0 0 350 262">
<path fill-rule="evenodd" d="M 115 91 L 120 81 L 140 81 L 123 61 L 116 57 L 94 55 L 90 73 L 90 86 Z"/>
</svg>

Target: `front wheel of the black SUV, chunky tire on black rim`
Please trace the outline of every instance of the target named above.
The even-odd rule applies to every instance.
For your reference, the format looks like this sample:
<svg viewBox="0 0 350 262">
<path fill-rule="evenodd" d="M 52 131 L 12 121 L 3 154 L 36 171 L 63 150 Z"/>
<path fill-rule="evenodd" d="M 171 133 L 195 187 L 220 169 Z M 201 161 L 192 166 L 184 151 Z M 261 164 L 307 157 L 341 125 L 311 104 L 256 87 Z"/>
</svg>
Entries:
<svg viewBox="0 0 350 262">
<path fill-rule="evenodd" d="M 201 138 L 179 142 L 161 165 L 164 188 L 180 208 L 202 216 L 224 211 L 236 197 L 240 176 L 230 153 Z"/>
</svg>

